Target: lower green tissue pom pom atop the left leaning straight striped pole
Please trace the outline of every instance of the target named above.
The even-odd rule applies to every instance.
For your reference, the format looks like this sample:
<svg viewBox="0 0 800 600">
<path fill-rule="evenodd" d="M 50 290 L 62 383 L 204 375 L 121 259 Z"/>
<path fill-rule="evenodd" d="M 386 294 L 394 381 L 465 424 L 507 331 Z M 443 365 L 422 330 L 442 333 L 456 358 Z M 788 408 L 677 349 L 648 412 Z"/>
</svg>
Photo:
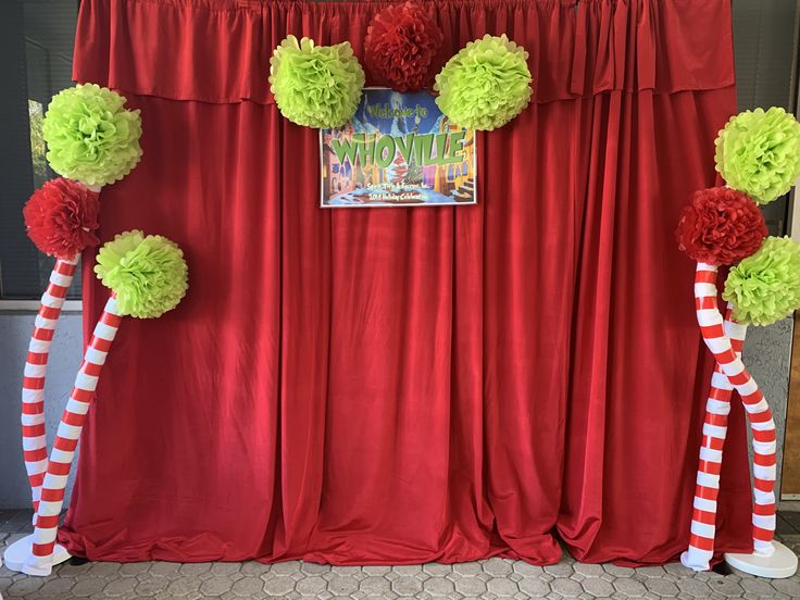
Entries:
<svg viewBox="0 0 800 600">
<path fill-rule="evenodd" d="M 120 314 L 152 318 L 177 307 L 188 288 L 184 253 L 162 236 L 120 234 L 97 255 L 95 273 L 116 293 Z"/>
</svg>

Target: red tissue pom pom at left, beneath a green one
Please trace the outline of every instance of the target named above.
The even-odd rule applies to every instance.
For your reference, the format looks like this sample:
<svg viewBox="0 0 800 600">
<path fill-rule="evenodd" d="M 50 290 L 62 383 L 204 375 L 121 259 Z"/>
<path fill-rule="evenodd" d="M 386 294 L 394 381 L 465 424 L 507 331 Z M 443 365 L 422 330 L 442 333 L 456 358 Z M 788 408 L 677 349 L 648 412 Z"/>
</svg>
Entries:
<svg viewBox="0 0 800 600">
<path fill-rule="evenodd" d="M 100 240 L 99 195 L 77 182 L 58 178 L 37 189 L 22 211 L 28 237 L 51 257 L 72 259 Z"/>
</svg>

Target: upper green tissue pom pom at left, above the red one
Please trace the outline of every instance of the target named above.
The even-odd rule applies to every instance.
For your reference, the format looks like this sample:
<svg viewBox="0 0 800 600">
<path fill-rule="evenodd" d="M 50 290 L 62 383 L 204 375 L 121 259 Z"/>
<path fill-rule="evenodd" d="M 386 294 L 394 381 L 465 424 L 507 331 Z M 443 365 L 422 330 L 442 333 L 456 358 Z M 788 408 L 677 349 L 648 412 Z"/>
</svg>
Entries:
<svg viewBox="0 0 800 600">
<path fill-rule="evenodd" d="M 141 159 L 141 120 L 124 105 L 124 97 L 97 84 L 53 96 L 41 126 L 52 170 L 89 186 L 130 173 Z"/>
</svg>

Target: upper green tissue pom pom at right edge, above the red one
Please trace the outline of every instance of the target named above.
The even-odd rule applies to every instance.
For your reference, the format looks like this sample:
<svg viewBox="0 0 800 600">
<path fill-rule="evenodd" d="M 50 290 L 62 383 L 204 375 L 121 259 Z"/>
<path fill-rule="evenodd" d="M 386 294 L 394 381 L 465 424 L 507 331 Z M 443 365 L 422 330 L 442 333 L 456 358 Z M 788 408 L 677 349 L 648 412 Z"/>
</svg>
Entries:
<svg viewBox="0 0 800 600">
<path fill-rule="evenodd" d="M 715 143 L 716 170 L 759 204 L 783 196 L 800 177 L 800 123 L 784 109 L 739 113 Z"/>
</svg>

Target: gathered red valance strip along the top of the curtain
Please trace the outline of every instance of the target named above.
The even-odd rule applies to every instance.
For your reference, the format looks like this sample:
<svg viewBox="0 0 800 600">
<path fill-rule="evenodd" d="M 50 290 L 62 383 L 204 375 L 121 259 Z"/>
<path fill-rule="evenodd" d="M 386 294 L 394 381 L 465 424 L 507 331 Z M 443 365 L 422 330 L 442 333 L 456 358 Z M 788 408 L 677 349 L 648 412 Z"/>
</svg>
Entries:
<svg viewBox="0 0 800 600">
<path fill-rule="evenodd" d="M 349 40 L 363 59 L 366 26 L 385 4 L 93 1 L 80 12 L 74 78 L 174 100 L 272 103 L 270 57 L 287 34 L 317 43 Z M 484 34 L 507 33 L 530 54 L 539 103 L 608 90 L 718 89 L 734 82 L 730 32 L 717 26 L 729 22 L 728 0 L 435 4 L 446 36 L 442 59 Z"/>
</svg>

